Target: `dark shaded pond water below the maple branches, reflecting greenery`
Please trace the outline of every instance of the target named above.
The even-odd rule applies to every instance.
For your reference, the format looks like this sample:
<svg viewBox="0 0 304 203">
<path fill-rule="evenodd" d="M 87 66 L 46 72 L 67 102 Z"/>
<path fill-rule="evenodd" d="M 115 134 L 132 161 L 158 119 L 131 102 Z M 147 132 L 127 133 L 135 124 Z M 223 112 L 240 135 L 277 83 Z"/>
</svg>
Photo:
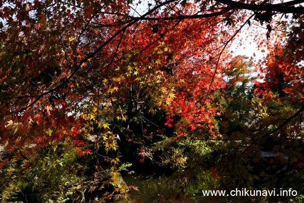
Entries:
<svg viewBox="0 0 304 203">
<path fill-rule="evenodd" d="M 144 203 L 165 203 L 165 202 L 187 202 L 187 203 L 204 203 L 207 197 L 198 192 L 192 195 L 185 195 L 174 189 L 174 185 L 170 185 L 168 178 L 158 175 L 126 175 L 123 176 L 128 186 L 138 187 L 139 192 L 131 190 L 129 192 L 131 199 L 138 199 L 138 202 Z"/>
</svg>

